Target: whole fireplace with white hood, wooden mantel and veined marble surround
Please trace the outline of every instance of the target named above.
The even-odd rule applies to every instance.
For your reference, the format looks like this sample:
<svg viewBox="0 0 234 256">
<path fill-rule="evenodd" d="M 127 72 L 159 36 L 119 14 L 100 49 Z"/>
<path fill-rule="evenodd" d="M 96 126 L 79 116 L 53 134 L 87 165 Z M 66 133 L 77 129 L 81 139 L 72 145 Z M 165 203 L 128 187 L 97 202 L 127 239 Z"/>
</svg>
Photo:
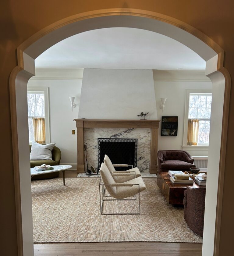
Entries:
<svg viewBox="0 0 234 256">
<path fill-rule="evenodd" d="M 141 112 L 149 112 L 138 117 Z M 157 173 L 158 127 L 152 69 L 84 69 L 77 128 L 77 173 L 98 169 L 98 140 L 137 139 L 137 167 Z M 113 159 L 114 160 L 114 159 Z M 128 163 L 129 164 L 129 163 Z"/>
</svg>

